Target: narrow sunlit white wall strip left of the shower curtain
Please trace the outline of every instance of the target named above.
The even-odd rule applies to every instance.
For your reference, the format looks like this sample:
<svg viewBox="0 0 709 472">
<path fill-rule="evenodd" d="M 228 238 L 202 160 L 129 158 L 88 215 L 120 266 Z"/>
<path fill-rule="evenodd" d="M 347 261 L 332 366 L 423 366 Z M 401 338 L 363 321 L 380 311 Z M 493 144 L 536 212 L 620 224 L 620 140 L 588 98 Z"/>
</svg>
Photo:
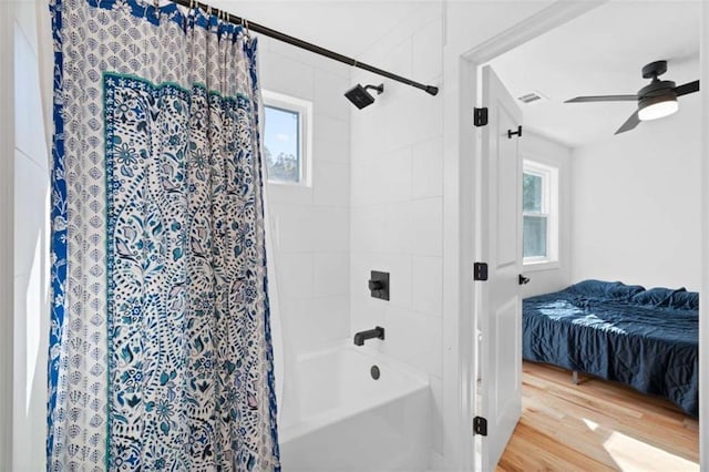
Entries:
<svg viewBox="0 0 709 472">
<path fill-rule="evenodd" d="M 44 469 L 49 337 L 49 165 L 38 8 L 14 10 L 14 374 L 12 470 Z"/>
</svg>

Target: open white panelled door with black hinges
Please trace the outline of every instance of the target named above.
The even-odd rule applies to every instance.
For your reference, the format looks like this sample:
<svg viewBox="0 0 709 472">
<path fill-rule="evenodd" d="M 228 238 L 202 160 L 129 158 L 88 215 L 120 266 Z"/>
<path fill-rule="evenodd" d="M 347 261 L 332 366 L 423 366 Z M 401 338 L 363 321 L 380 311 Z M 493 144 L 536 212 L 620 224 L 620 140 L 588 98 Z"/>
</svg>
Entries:
<svg viewBox="0 0 709 472">
<path fill-rule="evenodd" d="M 522 112 L 490 66 L 483 68 L 482 192 L 479 235 L 489 278 L 476 281 L 480 404 L 487 435 L 479 447 L 483 471 L 494 471 L 522 414 Z"/>
</svg>

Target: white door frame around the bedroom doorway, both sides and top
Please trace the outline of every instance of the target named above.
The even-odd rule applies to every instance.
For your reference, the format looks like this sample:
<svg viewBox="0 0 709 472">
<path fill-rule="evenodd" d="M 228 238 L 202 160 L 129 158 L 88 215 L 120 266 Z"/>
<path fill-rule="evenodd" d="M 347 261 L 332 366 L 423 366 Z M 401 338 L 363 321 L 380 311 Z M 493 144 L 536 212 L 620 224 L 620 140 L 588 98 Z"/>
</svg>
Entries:
<svg viewBox="0 0 709 472">
<path fill-rule="evenodd" d="M 588 11 L 606 3 L 608 0 L 594 0 L 588 2 L 557 1 L 540 12 L 528 17 L 490 40 L 477 44 L 462 54 L 455 54 L 449 61 L 455 61 L 458 66 L 456 83 L 452 83 L 456 93 L 456 101 L 446 101 L 444 115 L 458 117 L 458 127 L 451 136 L 454 141 L 453 148 L 456 152 L 456 170 L 459 172 L 458 236 L 460 245 L 454 256 L 459 257 L 459 406 L 463 424 L 459 424 L 459 432 L 464 438 L 458 444 L 456 455 L 465 470 L 479 470 L 475 463 L 475 449 L 481 444 L 480 438 L 470 441 L 470 424 L 475 413 L 476 376 L 477 376 L 477 314 L 475 312 L 475 287 L 472 283 L 473 261 L 477 260 L 482 232 L 476 222 L 480 218 L 480 179 L 481 168 L 481 136 L 473 126 L 473 107 L 480 106 L 479 98 L 481 83 L 479 79 L 480 68 L 492 59 L 517 48 L 525 42 L 544 34 L 566 22 L 578 18 Z M 649 1 L 649 0 L 648 0 Z M 709 43 L 709 6 L 701 3 L 701 44 Z M 701 78 L 703 83 L 709 83 L 709 48 L 700 48 Z M 451 81 L 453 82 L 453 81 Z M 709 125 L 709 93 L 702 95 L 702 125 Z M 448 140 L 446 140 L 448 141 Z M 444 152 L 452 153 L 453 148 L 445 147 Z M 709 294 L 709 133 L 702 137 L 702 279 L 700 291 Z M 445 234 L 446 232 L 444 232 Z M 470 315 L 473 314 L 471 317 Z M 444 326 L 444 337 L 449 336 Z M 699 312 L 699 358 L 709 355 L 709 304 L 702 304 Z M 445 358 L 444 358 L 445 359 Z M 445 369 L 444 362 L 444 369 Z M 444 372 L 445 377 L 445 372 Z M 700 366 L 700 390 L 709 390 L 709 362 Z M 699 422 L 699 449 L 700 469 L 709 469 L 709 401 L 700 398 Z"/>
</svg>

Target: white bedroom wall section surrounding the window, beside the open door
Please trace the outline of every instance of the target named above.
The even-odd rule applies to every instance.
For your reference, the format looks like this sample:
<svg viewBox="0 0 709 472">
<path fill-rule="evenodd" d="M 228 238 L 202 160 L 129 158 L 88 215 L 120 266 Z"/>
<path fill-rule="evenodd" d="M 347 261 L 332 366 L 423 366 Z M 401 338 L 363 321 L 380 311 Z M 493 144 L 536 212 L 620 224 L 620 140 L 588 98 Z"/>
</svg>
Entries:
<svg viewBox="0 0 709 472">
<path fill-rule="evenodd" d="M 548 294 L 567 287 L 572 277 L 572 150 L 553 140 L 525 131 L 520 141 L 522 158 L 558 168 L 558 260 L 551 264 L 526 265 L 524 274 L 530 283 L 525 297 Z"/>
</svg>

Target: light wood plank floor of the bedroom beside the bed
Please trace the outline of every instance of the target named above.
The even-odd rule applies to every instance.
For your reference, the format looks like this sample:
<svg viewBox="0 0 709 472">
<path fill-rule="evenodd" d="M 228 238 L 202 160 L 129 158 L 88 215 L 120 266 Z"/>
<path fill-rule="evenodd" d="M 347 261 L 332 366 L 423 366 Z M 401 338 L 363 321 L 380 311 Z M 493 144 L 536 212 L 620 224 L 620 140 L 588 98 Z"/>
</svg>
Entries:
<svg viewBox="0 0 709 472">
<path fill-rule="evenodd" d="M 501 471 L 699 470 L 699 424 L 617 383 L 524 362 L 522 420 Z"/>
</svg>

